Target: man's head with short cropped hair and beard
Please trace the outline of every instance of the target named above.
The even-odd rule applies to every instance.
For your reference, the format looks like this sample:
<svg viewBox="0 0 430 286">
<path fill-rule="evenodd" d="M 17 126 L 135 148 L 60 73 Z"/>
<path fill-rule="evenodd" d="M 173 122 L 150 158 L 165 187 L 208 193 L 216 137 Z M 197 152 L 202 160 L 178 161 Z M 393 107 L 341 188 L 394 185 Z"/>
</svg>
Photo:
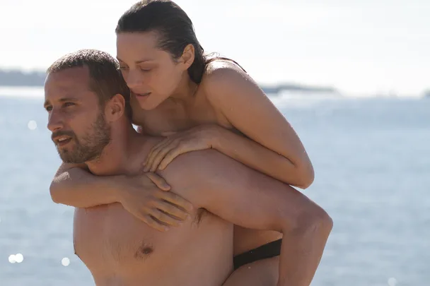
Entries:
<svg viewBox="0 0 430 286">
<path fill-rule="evenodd" d="M 129 89 L 108 53 L 83 49 L 47 69 L 48 129 L 64 162 L 96 159 L 110 143 L 112 124 L 130 121 Z"/>
</svg>

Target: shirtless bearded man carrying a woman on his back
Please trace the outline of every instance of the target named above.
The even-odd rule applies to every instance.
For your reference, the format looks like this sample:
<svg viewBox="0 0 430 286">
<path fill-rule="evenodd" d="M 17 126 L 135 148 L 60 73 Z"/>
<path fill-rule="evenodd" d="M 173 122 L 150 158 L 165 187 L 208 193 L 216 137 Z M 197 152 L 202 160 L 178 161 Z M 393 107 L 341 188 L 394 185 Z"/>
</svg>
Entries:
<svg viewBox="0 0 430 286">
<path fill-rule="evenodd" d="M 45 109 L 62 160 L 100 176 L 141 172 L 141 158 L 161 138 L 133 129 L 128 103 L 117 62 L 108 54 L 84 50 L 52 64 Z M 76 208 L 76 254 L 96 285 L 252 285 L 231 275 L 233 224 L 282 232 L 280 268 L 306 269 L 280 275 L 278 285 L 310 284 L 332 220 L 306 196 L 215 150 L 180 155 L 158 174 L 172 186 L 170 196 L 190 202 L 191 218 L 168 232 L 137 220 L 120 203 Z M 301 243 L 289 244 L 293 237 Z"/>
</svg>

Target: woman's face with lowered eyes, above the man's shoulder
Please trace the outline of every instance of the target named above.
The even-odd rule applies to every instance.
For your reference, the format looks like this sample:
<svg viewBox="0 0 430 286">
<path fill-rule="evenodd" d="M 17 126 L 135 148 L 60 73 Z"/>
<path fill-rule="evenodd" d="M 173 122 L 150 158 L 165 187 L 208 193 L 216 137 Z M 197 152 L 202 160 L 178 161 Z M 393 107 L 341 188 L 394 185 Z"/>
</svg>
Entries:
<svg viewBox="0 0 430 286">
<path fill-rule="evenodd" d="M 117 59 L 132 90 L 132 105 L 138 103 L 144 110 L 154 109 L 170 97 L 186 71 L 171 54 L 158 49 L 157 42 L 156 32 L 117 34 Z"/>
</svg>

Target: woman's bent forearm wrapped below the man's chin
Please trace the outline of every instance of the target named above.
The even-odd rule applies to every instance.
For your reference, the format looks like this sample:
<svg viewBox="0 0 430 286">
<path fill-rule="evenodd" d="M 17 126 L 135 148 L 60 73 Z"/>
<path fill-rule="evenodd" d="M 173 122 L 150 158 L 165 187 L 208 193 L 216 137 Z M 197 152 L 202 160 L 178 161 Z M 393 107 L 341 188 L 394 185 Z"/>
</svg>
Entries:
<svg viewBox="0 0 430 286">
<path fill-rule="evenodd" d="M 50 193 L 52 201 L 76 208 L 89 208 L 120 201 L 122 176 L 95 176 L 74 167 L 54 177 Z"/>
</svg>

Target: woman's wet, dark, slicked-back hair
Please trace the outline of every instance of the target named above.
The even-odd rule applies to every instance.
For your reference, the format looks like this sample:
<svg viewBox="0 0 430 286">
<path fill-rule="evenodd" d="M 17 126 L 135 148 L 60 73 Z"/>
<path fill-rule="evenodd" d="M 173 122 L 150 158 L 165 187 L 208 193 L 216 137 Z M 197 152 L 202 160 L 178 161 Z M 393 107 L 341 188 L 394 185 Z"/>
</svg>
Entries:
<svg viewBox="0 0 430 286">
<path fill-rule="evenodd" d="M 118 20 L 115 32 L 157 32 L 158 48 L 179 59 L 187 44 L 194 46 L 194 61 L 188 74 L 191 81 L 200 83 L 209 62 L 226 59 L 204 55 L 204 49 L 197 40 L 194 26 L 187 13 L 170 0 L 143 0 L 134 4 Z M 230 59 L 227 59 L 230 60 Z M 230 60 L 231 61 L 231 60 Z"/>
</svg>

